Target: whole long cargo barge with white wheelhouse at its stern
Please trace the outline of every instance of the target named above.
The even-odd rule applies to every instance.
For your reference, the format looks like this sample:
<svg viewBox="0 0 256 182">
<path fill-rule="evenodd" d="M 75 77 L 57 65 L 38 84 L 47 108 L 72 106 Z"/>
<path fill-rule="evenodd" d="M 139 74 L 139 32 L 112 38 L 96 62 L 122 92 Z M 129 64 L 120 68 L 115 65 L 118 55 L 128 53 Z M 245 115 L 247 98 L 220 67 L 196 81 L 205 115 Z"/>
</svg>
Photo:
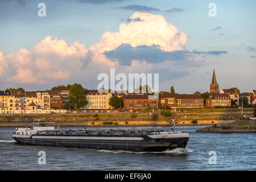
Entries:
<svg viewBox="0 0 256 182">
<path fill-rule="evenodd" d="M 33 123 L 31 128 L 17 128 L 13 139 L 37 146 L 92 148 L 133 152 L 161 152 L 185 148 L 188 133 L 169 130 L 59 130 L 55 123 Z"/>
</svg>

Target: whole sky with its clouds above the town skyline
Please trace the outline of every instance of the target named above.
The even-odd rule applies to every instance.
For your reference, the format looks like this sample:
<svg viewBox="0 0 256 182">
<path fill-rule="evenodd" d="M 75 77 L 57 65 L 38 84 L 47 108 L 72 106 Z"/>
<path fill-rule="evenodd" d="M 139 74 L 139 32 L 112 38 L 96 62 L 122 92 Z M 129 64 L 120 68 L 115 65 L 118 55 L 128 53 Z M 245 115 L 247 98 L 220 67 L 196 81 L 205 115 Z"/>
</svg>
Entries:
<svg viewBox="0 0 256 182">
<path fill-rule="evenodd" d="M 39 3 L 46 16 L 38 16 Z M 210 3 L 216 16 L 210 16 Z M 0 89 L 159 73 L 159 90 L 256 89 L 255 1 L 0 1 Z"/>
</svg>

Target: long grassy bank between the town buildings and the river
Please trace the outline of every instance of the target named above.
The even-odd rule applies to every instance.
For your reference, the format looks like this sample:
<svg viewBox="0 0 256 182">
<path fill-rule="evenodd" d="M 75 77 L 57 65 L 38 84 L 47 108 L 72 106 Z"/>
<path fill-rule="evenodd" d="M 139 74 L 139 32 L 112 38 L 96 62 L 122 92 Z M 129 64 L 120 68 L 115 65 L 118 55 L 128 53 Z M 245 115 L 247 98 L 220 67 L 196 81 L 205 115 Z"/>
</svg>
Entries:
<svg viewBox="0 0 256 182">
<path fill-rule="evenodd" d="M 245 109 L 244 114 L 253 115 L 253 109 Z M 212 125 L 223 121 L 237 121 L 240 109 L 189 109 L 165 117 L 159 112 L 157 119 L 153 113 L 98 113 L 96 114 L 6 114 L 0 115 L 0 126 L 30 126 L 32 122 L 56 122 L 59 126 L 99 126 L 108 125 L 169 125 L 168 119 L 177 119 L 180 125 Z M 196 121 L 195 124 L 191 123 Z"/>
</svg>

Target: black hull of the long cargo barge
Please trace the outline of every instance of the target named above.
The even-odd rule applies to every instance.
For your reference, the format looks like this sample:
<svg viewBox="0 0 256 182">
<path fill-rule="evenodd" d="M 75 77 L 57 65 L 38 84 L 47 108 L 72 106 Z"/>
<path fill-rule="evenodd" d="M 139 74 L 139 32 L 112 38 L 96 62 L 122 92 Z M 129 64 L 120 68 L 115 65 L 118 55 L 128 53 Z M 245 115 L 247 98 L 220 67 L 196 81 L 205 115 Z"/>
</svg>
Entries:
<svg viewBox="0 0 256 182">
<path fill-rule="evenodd" d="M 174 148 L 185 148 L 187 137 L 152 139 L 143 136 L 143 140 L 90 140 L 90 139 L 42 139 L 13 137 L 18 143 L 36 146 L 60 146 L 92 148 L 96 150 L 121 150 L 133 152 L 162 152 Z"/>
</svg>

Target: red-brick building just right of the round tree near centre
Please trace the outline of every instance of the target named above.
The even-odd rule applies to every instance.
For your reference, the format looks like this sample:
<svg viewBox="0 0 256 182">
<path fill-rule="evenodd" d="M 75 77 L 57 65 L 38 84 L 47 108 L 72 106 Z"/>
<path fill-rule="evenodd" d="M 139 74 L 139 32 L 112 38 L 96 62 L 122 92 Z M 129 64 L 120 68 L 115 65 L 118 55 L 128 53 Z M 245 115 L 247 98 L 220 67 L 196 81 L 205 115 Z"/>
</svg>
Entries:
<svg viewBox="0 0 256 182">
<path fill-rule="evenodd" d="M 150 96 L 147 94 L 128 94 L 122 97 L 123 107 L 126 110 L 131 109 L 146 109 L 146 108 L 157 108 L 158 99 L 155 96 Z"/>
</svg>

